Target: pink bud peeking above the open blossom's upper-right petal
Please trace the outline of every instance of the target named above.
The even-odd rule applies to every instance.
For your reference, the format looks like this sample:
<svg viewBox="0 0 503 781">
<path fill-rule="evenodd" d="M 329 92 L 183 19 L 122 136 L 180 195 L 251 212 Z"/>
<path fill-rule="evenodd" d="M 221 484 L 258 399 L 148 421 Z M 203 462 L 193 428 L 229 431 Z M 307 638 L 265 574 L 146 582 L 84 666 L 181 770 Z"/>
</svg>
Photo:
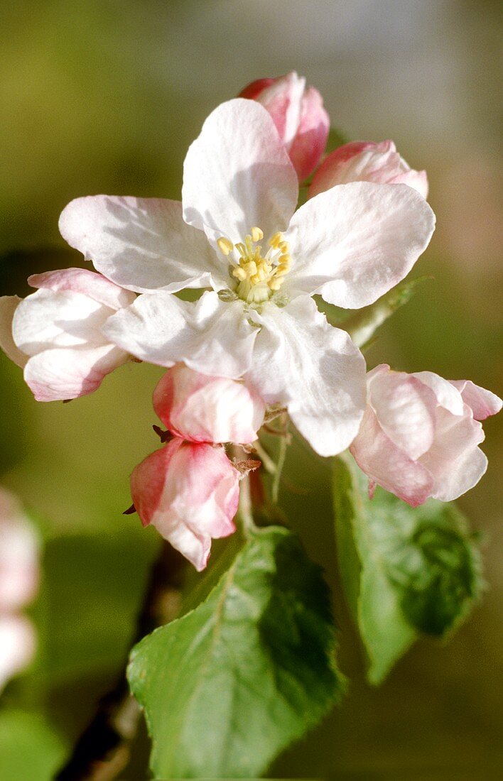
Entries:
<svg viewBox="0 0 503 781">
<path fill-rule="evenodd" d="M 312 178 L 309 198 L 330 190 L 335 184 L 375 182 L 376 184 L 408 184 L 426 198 L 426 171 L 414 171 L 398 154 L 393 141 L 351 141 L 323 160 Z"/>
</svg>

